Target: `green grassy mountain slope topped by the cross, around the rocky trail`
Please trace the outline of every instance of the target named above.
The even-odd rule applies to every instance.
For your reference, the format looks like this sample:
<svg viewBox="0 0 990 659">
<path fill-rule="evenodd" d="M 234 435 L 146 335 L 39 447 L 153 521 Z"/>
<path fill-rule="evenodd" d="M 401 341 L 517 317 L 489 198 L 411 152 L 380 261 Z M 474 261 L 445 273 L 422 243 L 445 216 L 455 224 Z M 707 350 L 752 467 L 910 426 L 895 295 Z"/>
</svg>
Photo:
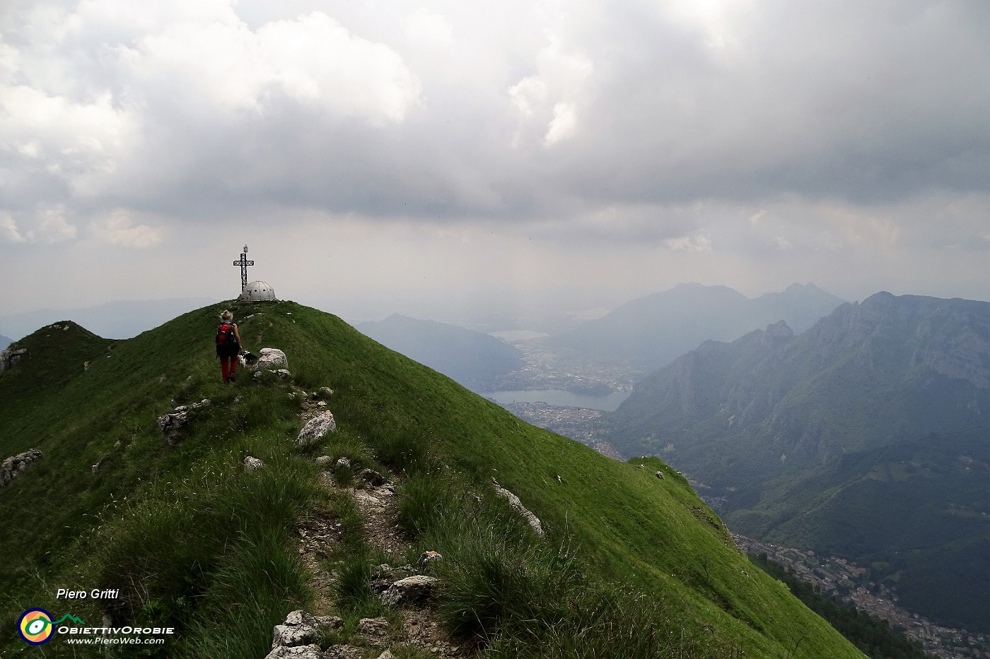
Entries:
<svg viewBox="0 0 990 659">
<path fill-rule="evenodd" d="M 281 348 L 300 387 L 334 390 L 328 408 L 339 431 L 314 448 L 295 447 L 303 400 L 288 381 L 242 374 L 235 386 L 220 382 L 212 345 L 219 310 L 186 314 L 112 349 L 75 326 L 19 341 L 33 357 L 0 373 L 0 454 L 38 447 L 45 455 L 0 490 L 0 523 L 12 529 L 0 534 L 8 630 L 0 653 L 34 651 L 14 629 L 21 612 L 42 607 L 87 621 L 174 626 L 155 656 L 264 656 L 272 624 L 314 602 L 293 539 L 300 518 L 334 504 L 321 494 L 313 461 L 328 452 L 395 473 L 400 510 L 416 503 L 416 488 L 437 501 L 456 495 L 427 518 L 447 527 L 428 529 L 422 541 L 445 555 L 440 574 L 449 585 L 439 598 L 447 623 L 462 634 L 482 624 L 480 649 L 492 656 L 580 656 L 596 644 L 605 648 L 596 656 L 633 656 L 613 643 L 617 628 L 627 629 L 624 642 L 686 635 L 693 644 L 684 656 L 862 656 L 753 569 L 687 482 L 658 460 L 623 464 L 524 424 L 333 316 L 290 302 L 241 308 L 249 349 Z M 184 440 L 169 447 L 156 417 L 202 399 L 210 405 L 190 413 Z M 246 455 L 265 468 L 244 472 Z M 503 515 L 493 476 L 543 520 L 544 540 L 524 528 L 472 547 L 463 542 L 470 533 L 453 534 Z M 347 536 L 342 542 L 350 546 Z M 491 558 L 488 544 L 516 567 L 479 565 Z M 533 583 L 574 599 L 534 592 L 507 605 L 499 579 L 518 572 L 529 580 L 539 571 L 528 571 L 527 557 L 538 554 L 566 569 Z M 478 575 L 476 593 L 458 593 L 458 572 Z M 564 576 L 585 585 L 565 588 Z M 56 599 L 58 588 L 119 589 L 120 597 L 70 603 Z M 602 594 L 590 610 L 582 590 Z M 465 598 L 473 604 L 451 611 Z M 631 614 L 609 613 L 622 602 Z M 344 612 L 346 601 L 339 606 Z M 585 622 L 574 628 L 574 620 Z M 44 649 L 97 656 L 57 639 Z"/>
</svg>

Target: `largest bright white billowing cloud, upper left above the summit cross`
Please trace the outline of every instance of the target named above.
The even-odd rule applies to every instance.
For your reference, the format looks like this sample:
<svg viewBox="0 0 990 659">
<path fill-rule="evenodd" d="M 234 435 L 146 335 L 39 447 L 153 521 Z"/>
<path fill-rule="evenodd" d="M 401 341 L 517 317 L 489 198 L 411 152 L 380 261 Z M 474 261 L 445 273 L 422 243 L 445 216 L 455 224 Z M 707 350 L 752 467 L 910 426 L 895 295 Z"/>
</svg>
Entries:
<svg viewBox="0 0 990 659">
<path fill-rule="evenodd" d="M 390 47 L 352 35 L 322 12 L 267 23 L 183 22 L 120 47 L 143 84 L 188 102 L 262 112 L 273 94 L 372 123 L 403 121 L 419 81 Z"/>
</svg>

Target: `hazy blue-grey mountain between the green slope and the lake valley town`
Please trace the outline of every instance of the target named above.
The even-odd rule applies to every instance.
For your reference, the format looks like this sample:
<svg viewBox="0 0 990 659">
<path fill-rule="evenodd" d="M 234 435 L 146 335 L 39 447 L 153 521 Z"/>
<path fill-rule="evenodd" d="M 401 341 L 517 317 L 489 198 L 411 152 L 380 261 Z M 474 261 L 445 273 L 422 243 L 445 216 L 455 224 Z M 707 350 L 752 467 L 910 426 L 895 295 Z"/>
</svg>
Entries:
<svg viewBox="0 0 990 659">
<path fill-rule="evenodd" d="M 445 323 L 393 314 L 355 329 L 474 391 L 487 391 L 497 378 L 526 365 L 519 348 L 502 339 Z"/>
</svg>

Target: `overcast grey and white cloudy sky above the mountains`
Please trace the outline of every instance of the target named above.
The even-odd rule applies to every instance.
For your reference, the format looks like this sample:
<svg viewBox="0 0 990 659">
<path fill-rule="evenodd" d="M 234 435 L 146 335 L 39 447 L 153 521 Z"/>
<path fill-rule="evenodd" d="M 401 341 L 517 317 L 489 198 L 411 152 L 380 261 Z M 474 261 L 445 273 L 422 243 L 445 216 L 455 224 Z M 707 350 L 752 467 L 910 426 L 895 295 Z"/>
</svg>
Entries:
<svg viewBox="0 0 990 659">
<path fill-rule="evenodd" d="M 5 0 L 0 315 L 233 298 L 245 243 L 352 316 L 990 300 L 988 74 L 983 0 Z"/>
</svg>

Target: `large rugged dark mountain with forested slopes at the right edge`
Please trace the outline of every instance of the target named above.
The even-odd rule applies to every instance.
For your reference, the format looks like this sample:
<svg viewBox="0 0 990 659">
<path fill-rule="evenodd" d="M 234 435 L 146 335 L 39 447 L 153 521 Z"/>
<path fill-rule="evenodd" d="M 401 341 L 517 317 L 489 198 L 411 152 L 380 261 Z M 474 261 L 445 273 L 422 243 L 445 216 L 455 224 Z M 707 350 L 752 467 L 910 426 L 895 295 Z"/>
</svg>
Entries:
<svg viewBox="0 0 990 659">
<path fill-rule="evenodd" d="M 735 531 L 872 563 L 913 611 L 990 630 L 990 303 L 877 293 L 801 335 L 708 341 L 607 420 Z"/>
</svg>

